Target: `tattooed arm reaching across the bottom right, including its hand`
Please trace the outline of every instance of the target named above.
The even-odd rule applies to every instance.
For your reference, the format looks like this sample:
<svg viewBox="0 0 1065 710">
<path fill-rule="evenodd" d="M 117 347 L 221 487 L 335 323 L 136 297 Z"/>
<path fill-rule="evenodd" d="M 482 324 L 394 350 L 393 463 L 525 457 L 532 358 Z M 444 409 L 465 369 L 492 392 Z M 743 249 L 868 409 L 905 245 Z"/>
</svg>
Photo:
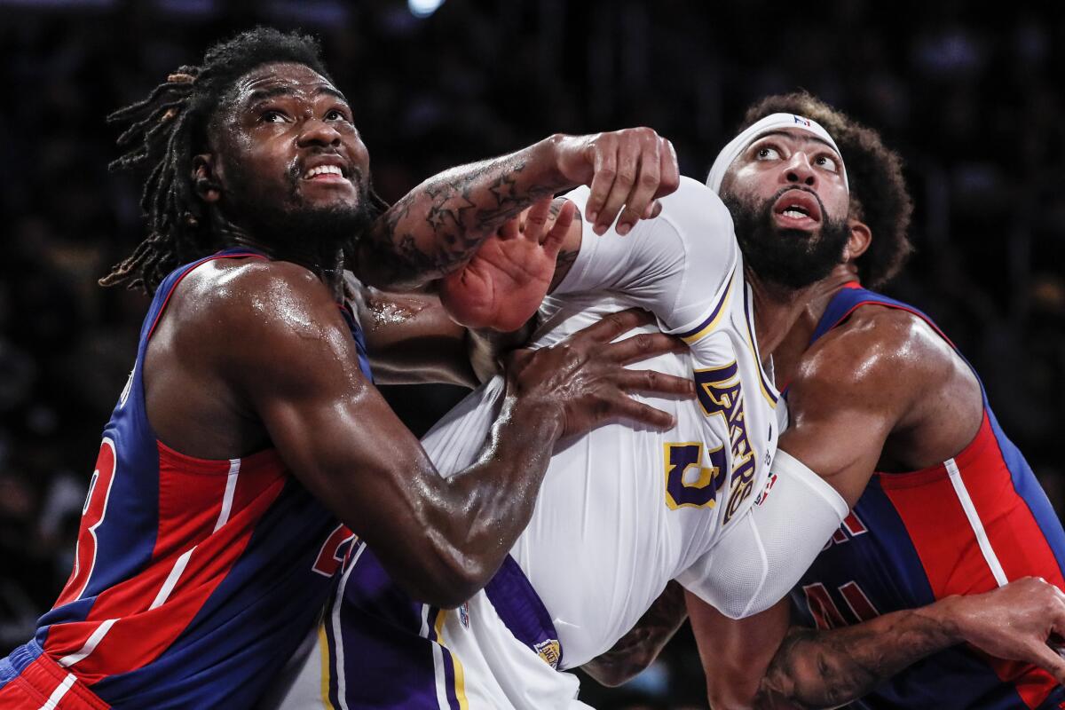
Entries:
<svg viewBox="0 0 1065 710">
<path fill-rule="evenodd" d="M 715 710 L 836 708 L 958 643 L 1039 665 L 1065 681 L 1065 661 L 1047 644 L 1065 630 L 1065 595 L 1041 579 L 826 631 L 788 628 L 788 604 L 734 621 L 688 595 Z"/>
</svg>

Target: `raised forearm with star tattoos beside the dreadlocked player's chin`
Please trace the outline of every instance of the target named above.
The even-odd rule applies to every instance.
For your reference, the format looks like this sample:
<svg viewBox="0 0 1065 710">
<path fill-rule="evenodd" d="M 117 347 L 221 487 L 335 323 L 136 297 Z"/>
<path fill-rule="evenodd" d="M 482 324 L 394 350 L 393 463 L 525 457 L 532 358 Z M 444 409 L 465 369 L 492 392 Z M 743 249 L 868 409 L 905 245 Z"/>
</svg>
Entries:
<svg viewBox="0 0 1065 710">
<path fill-rule="evenodd" d="M 558 170 L 562 136 L 480 163 L 445 170 L 382 215 L 358 249 L 367 284 L 416 287 L 464 263 L 507 219 L 545 195 L 574 186 Z"/>
</svg>

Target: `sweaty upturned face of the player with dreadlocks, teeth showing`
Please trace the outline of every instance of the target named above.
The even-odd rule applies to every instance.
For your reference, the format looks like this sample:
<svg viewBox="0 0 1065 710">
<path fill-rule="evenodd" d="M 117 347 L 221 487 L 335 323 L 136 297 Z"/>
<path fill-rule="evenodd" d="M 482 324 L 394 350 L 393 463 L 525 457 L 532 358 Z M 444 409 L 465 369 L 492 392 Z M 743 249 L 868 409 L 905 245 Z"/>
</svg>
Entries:
<svg viewBox="0 0 1065 710">
<path fill-rule="evenodd" d="M 368 209 L 370 154 L 343 94 L 306 65 L 273 63 L 227 98 L 209 131 L 223 212 L 258 232 L 349 234 Z"/>
</svg>

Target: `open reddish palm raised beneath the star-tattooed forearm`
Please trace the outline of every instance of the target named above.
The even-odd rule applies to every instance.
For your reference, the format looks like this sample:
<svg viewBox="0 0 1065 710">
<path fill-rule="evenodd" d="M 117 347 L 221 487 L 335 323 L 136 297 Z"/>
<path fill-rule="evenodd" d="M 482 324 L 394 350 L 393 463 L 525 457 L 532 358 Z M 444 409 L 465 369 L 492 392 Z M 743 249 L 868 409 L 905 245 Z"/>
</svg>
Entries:
<svg viewBox="0 0 1065 710">
<path fill-rule="evenodd" d="M 441 279 L 440 301 L 456 323 L 510 332 L 532 317 L 576 214 L 569 201 L 557 217 L 552 210 L 550 197 L 535 203 L 485 240 L 464 267 Z"/>
</svg>

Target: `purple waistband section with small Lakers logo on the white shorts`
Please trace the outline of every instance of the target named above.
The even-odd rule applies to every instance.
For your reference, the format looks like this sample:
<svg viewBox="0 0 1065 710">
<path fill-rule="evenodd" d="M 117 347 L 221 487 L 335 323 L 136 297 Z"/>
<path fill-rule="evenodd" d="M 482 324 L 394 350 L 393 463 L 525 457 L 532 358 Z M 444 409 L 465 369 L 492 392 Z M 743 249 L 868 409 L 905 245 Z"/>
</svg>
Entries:
<svg viewBox="0 0 1065 710">
<path fill-rule="evenodd" d="M 562 662 L 558 632 L 547 608 L 514 558 L 507 556 L 503 566 L 485 585 L 485 595 L 514 638 L 558 670 Z"/>
</svg>

